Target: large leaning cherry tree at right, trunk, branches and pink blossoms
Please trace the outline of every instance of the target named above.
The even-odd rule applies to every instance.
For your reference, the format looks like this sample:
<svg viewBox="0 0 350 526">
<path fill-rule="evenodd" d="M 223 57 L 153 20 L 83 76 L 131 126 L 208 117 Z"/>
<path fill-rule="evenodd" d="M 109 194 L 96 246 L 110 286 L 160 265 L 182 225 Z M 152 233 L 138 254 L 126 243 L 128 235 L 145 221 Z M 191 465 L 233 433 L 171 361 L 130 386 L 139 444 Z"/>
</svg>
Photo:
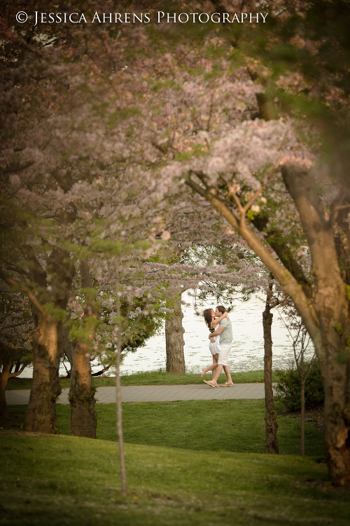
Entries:
<svg viewBox="0 0 350 526">
<path fill-rule="evenodd" d="M 342 27 L 346 4 L 342 3 L 339 10 L 333 3 L 329 5 L 333 22 Z M 307 8 L 309 6 L 315 7 L 315 4 L 307 3 Z M 301 14 L 294 8 L 292 11 L 292 18 L 302 19 L 303 11 Z M 289 21 L 287 10 L 285 15 Z M 307 20 L 305 13 L 304 18 Z M 284 20 L 281 17 L 281 31 Z M 325 31 L 324 26 L 321 29 Z M 297 31 L 296 28 L 295 39 Z M 290 48 L 301 46 L 309 58 L 309 55 L 318 55 L 319 46 L 321 62 L 327 58 L 330 64 L 331 53 L 328 53 L 335 45 L 335 34 L 330 32 L 324 36 L 331 45 L 328 49 L 323 46 L 322 39 L 320 44 L 316 42 L 313 47 L 310 44 L 309 48 L 307 43 L 292 41 Z M 344 39 L 340 41 L 336 53 L 339 60 L 346 60 L 346 45 Z M 247 66 L 248 72 L 252 69 L 257 83 L 269 76 L 269 69 L 255 59 Z M 335 485 L 347 487 L 349 190 L 344 173 L 348 161 L 344 148 L 334 144 L 333 137 L 339 137 L 340 144 L 346 141 L 342 133 L 347 137 L 344 121 L 347 119 L 348 73 L 343 68 L 333 72 L 325 72 L 326 82 L 321 86 L 321 92 L 316 90 L 316 79 L 312 75 L 310 79 L 307 71 L 298 72 L 300 81 L 308 81 L 310 113 L 320 108 L 311 126 L 297 113 L 297 104 L 304 103 L 303 110 L 307 114 L 308 100 L 301 93 L 304 87 L 300 83 L 293 84 L 295 72 L 288 79 L 280 75 L 276 81 L 280 100 L 289 102 L 287 109 L 293 110 L 292 116 L 278 115 L 276 101 L 275 119 L 270 113 L 265 116 L 269 120 L 241 119 L 241 123 L 232 123 L 226 131 L 208 131 L 203 126 L 204 130 L 199 130 L 195 137 L 183 134 L 176 146 L 180 151 L 186 151 L 186 159 L 178 158 L 169 163 L 162 169 L 162 174 L 173 181 L 174 177 L 179 177 L 179 187 L 181 180 L 185 180 L 190 189 L 211 203 L 293 299 L 313 339 L 325 384 L 325 447 L 330 478 Z M 267 89 L 263 91 L 266 93 Z M 284 98 L 283 93 L 286 94 Z M 290 93 L 295 96 L 290 98 Z M 323 135 L 325 130 L 333 132 L 329 141 Z M 206 151 L 203 156 L 197 155 L 200 147 Z M 332 172 L 325 163 L 325 154 L 336 167 Z M 307 257 L 311 258 L 309 267 L 305 262 Z"/>
</svg>

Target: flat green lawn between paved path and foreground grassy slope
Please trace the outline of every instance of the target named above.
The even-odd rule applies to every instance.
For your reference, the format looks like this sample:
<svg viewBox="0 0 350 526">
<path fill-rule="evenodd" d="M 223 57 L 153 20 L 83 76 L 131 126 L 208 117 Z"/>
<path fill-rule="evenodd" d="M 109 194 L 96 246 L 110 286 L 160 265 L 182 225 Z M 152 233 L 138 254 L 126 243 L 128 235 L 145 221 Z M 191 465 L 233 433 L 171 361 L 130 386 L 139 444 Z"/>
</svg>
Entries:
<svg viewBox="0 0 350 526">
<path fill-rule="evenodd" d="M 12 427 L 20 429 L 25 405 L 8 407 Z M 70 435 L 70 407 L 57 404 L 57 431 Z M 97 436 L 116 440 L 116 405 L 97 404 Z M 264 400 L 189 400 L 123 404 L 125 442 L 189 450 L 263 453 Z M 17 417 L 17 418 L 16 418 Z M 282 454 L 299 454 L 300 422 L 279 417 Z M 1 426 L 8 426 L 4 422 Z M 321 431 L 305 426 L 306 454 L 324 459 Z"/>
</svg>

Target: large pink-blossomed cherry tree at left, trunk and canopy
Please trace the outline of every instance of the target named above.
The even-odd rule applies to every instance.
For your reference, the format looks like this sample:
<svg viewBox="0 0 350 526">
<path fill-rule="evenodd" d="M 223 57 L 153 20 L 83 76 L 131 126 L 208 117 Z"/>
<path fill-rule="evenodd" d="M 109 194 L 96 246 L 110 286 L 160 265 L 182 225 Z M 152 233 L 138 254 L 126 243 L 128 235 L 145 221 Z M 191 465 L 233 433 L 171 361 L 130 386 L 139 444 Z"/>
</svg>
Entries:
<svg viewBox="0 0 350 526">
<path fill-rule="evenodd" d="M 123 89 L 119 74 L 116 82 L 109 81 L 113 71 L 121 71 L 110 58 L 118 55 L 125 42 L 115 40 L 111 54 L 103 46 L 105 33 L 94 32 L 93 27 L 84 43 L 81 32 L 63 26 L 47 26 L 43 32 L 32 27 L 26 32 L 20 25 L 13 29 L 16 7 L 3 6 L 1 27 L 6 41 L 1 70 L 6 90 L 1 113 L 1 242 L 9 249 L 1 261 L 1 278 L 28 295 L 34 316 L 34 381 L 26 429 L 54 432 L 59 356 L 76 262 L 80 261 L 80 267 L 84 264 L 81 251 L 89 243 L 90 231 L 97 229 L 95 242 L 104 237 L 96 224 L 106 216 L 104 203 L 113 206 L 111 228 L 123 238 L 128 229 L 120 225 L 127 222 L 131 228 L 152 185 L 144 180 L 144 195 L 139 185 L 134 186 L 125 165 L 125 142 L 118 139 L 130 127 L 130 122 L 123 126 L 124 116 L 134 114 L 126 108 L 130 79 Z M 132 34 L 132 40 L 137 38 Z M 110 88 L 107 93 L 102 89 L 105 81 Z M 119 107 L 103 113 L 112 100 L 113 104 L 119 100 Z M 135 159 L 141 162 L 136 150 Z M 148 226 L 151 229 L 152 224 Z M 148 227 L 139 231 L 139 238 L 148 235 Z M 83 287 L 89 289 L 88 272 L 83 276 Z M 87 310 L 85 318 L 90 323 L 96 313 L 91 305 Z M 83 343 L 78 346 L 85 356 Z M 84 364 L 87 371 L 88 363 Z"/>
</svg>

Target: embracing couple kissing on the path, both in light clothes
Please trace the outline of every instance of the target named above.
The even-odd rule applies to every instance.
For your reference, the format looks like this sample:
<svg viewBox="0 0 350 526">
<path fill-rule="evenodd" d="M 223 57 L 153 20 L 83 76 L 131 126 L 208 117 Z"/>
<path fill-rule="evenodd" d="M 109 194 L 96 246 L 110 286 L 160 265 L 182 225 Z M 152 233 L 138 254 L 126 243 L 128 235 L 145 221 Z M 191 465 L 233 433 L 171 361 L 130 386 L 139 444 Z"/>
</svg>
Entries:
<svg viewBox="0 0 350 526">
<path fill-rule="evenodd" d="M 232 322 L 226 312 L 224 306 L 219 305 L 216 307 L 215 312 L 213 309 L 206 309 L 204 311 L 204 320 L 206 321 L 209 330 L 210 343 L 209 350 L 213 356 L 213 365 L 205 367 L 202 370 L 201 378 L 204 377 L 206 372 L 213 372 L 212 380 L 203 380 L 206 384 L 211 387 L 233 387 L 230 367 L 228 366 L 228 356 L 232 348 Z M 218 341 L 219 340 L 219 341 Z M 227 381 L 225 384 L 218 384 L 218 377 L 224 370 Z"/>
</svg>

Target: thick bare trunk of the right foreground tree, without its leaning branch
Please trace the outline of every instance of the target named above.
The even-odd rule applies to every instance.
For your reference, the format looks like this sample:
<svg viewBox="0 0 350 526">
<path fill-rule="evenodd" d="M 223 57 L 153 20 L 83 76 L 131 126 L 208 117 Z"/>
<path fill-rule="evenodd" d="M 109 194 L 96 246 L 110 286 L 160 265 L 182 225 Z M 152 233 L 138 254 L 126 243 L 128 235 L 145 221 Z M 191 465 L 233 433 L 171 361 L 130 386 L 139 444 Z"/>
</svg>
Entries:
<svg viewBox="0 0 350 526">
<path fill-rule="evenodd" d="M 350 309 L 342 281 L 332 224 L 325 219 L 311 173 L 283 168 L 286 187 L 293 197 L 309 245 L 315 288 L 309 304 L 317 319 L 309 330 L 325 388 L 325 451 L 333 485 L 350 489 Z M 347 226 L 346 226 L 347 228 Z M 295 306 L 301 313 L 296 295 Z M 310 309 L 311 310 L 311 309 Z"/>
</svg>

